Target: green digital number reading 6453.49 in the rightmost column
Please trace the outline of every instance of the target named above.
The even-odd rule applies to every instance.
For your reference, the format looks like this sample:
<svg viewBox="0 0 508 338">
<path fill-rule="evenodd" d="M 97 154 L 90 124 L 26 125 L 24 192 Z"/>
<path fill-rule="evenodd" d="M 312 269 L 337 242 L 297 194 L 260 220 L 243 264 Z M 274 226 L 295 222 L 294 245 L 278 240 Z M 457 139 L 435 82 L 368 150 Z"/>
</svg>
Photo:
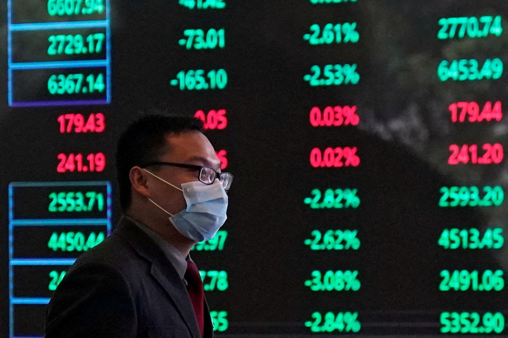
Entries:
<svg viewBox="0 0 508 338">
<path fill-rule="evenodd" d="M 497 80 L 503 75 L 503 61 L 499 58 L 486 59 L 480 70 L 477 59 L 462 59 L 449 62 L 442 60 L 437 67 L 437 76 L 442 82 L 452 81 L 475 81 Z"/>
</svg>

